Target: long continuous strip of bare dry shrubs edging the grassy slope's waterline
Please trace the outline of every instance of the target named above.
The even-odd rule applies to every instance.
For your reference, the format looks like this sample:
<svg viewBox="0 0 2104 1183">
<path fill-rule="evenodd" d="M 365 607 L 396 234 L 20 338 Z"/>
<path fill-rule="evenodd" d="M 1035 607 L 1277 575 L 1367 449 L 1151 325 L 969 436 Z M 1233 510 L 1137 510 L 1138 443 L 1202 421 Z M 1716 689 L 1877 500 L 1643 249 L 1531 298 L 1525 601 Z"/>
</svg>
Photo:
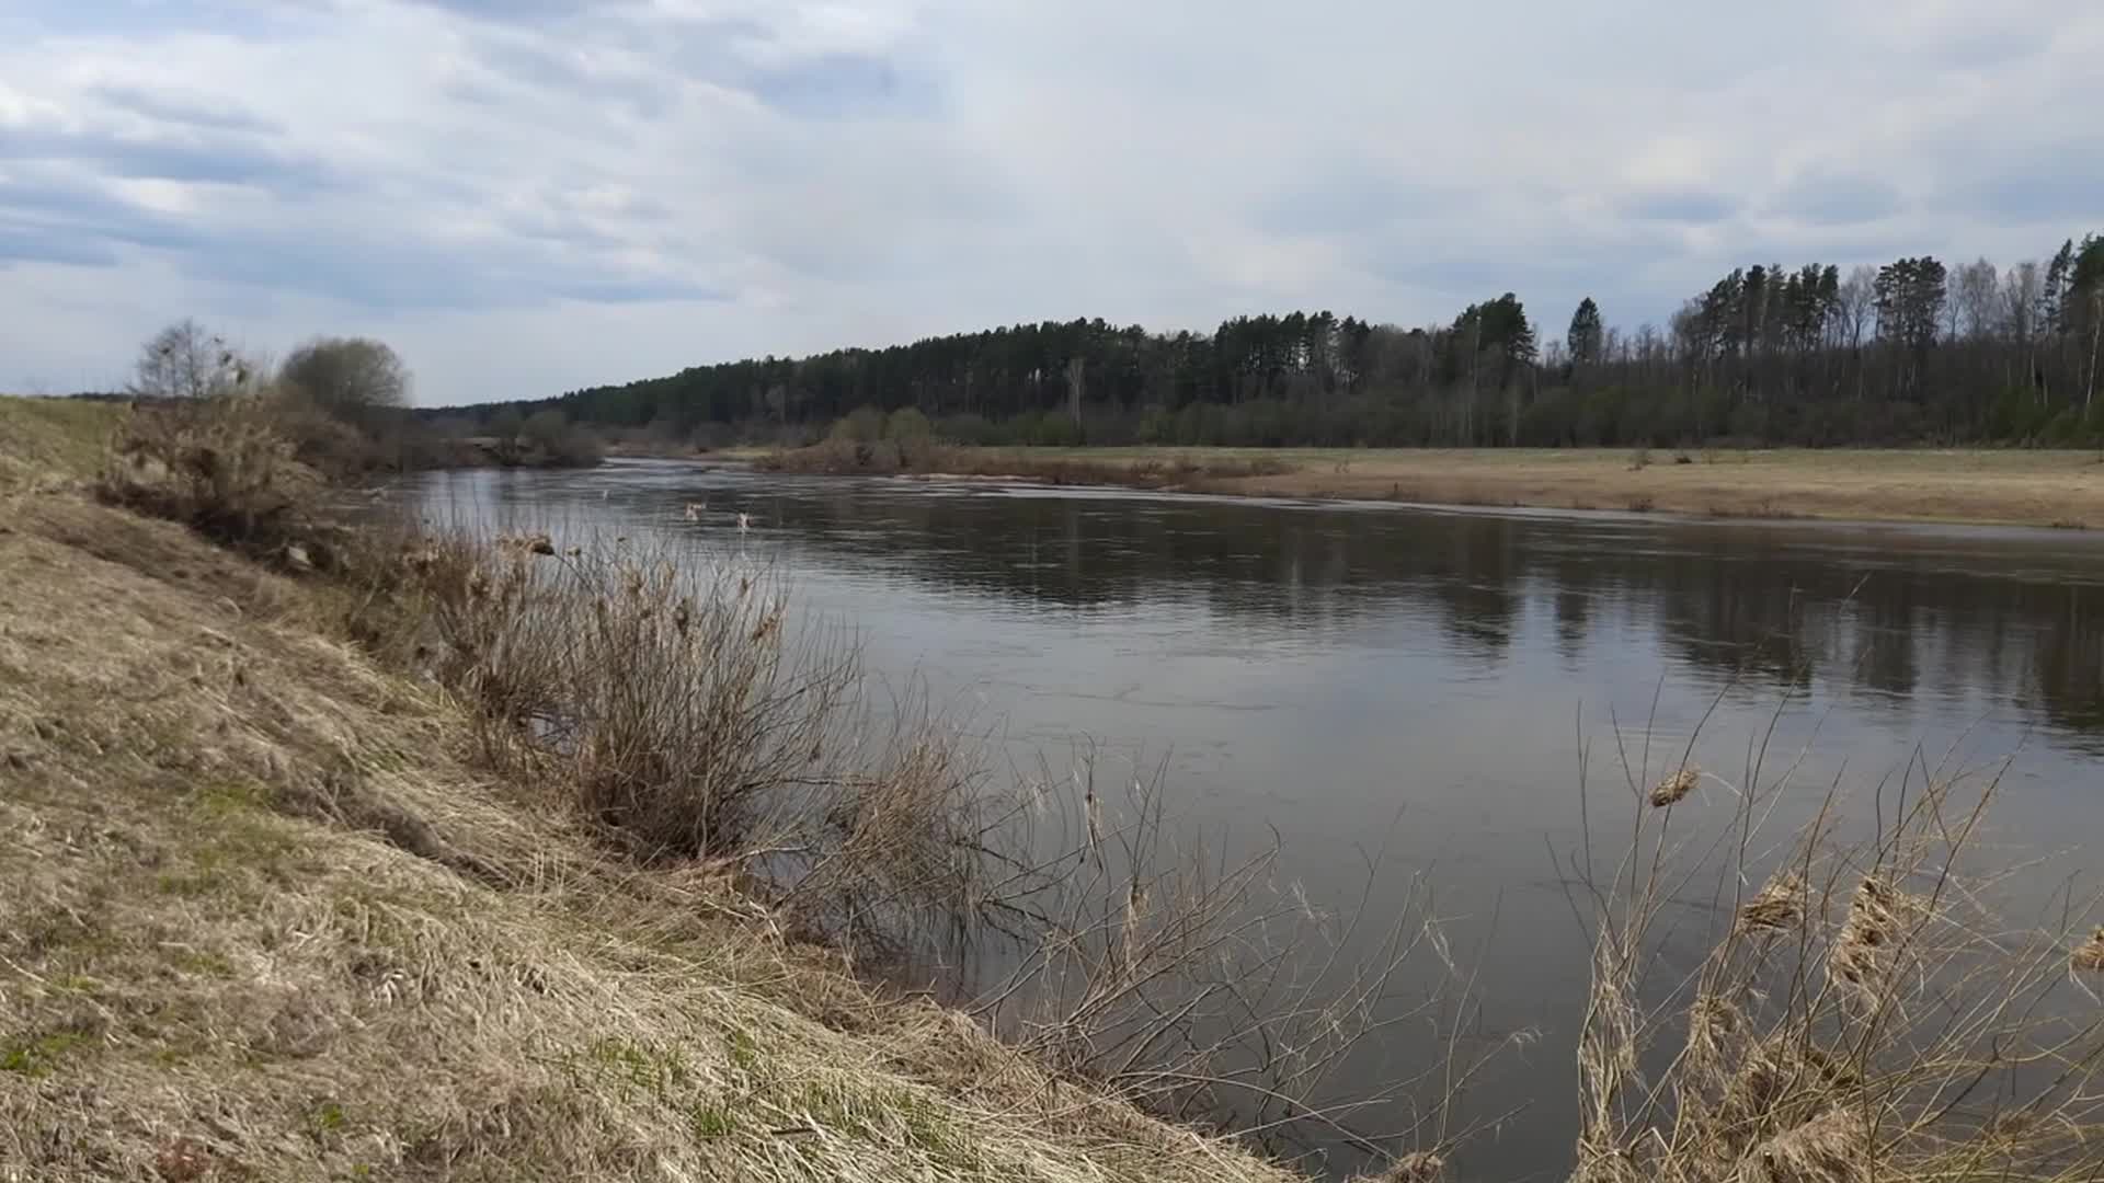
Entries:
<svg viewBox="0 0 2104 1183">
<path fill-rule="evenodd" d="M 1218 865 L 1172 842 L 1159 785 L 1130 821 L 1107 821 L 1086 781 L 1079 800 L 1050 775 L 1004 789 L 924 695 L 873 701 L 852 646 L 793 629 L 764 570 L 545 535 L 429 541 L 404 562 L 484 760 L 564 794 L 627 857 L 734 876 L 863 970 L 940 983 L 999 964 L 938 989 L 1054 1076 L 1149 1111 L 1368 1154 L 1458 1137 L 1353 1122 L 1456 1084 L 1445 1063 L 1334 1097 L 1365 1040 L 1458 1019 L 1460 989 L 1393 1006 L 1410 958 L 1445 956 L 1422 893 L 1359 933 L 1281 890 L 1277 850 Z"/>
</svg>

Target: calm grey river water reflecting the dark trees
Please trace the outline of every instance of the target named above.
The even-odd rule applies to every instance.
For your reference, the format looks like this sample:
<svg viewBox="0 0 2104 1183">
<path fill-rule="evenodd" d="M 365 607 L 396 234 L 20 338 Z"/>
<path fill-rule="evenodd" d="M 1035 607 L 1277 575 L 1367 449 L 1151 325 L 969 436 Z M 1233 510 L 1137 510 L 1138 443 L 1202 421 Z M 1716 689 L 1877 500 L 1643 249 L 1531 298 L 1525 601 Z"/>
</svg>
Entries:
<svg viewBox="0 0 2104 1183">
<path fill-rule="evenodd" d="M 1685 808 L 1723 817 L 1725 783 L 1744 783 L 1769 737 L 1769 775 L 1799 764 L 1803 810 L 1828 785 L 1868 802 L 1921 760 L 2005 766 L 1992 834 L 2009 859 L 2066 850 L 2104 823 L 2093 535 L 673 461 L 431 474 L 419 493 L 442 514 L 753 552 L 787 568 L 804 610 L 858 629 L 873 674 L 926 680 L 1010 756 L 1065 762 L 1088 743 L 1128 777 L 1166 762 L 1180 825 L 1239 848 L 1275 834 L 1281 876 L 1317 903 L 1357 897 L 1361 853 L 1380 855 L 1382 890 L 1397 893 L 1376 893 L 1376 914 L 1422 876 L 1450 947 L 1477 970 L 1471 1040 L 1532 1036 L 1462 1099 L 1471 1120 L 1517 1109 L 1471 1141 L 1469 1177 L 1551 1179 L 1570 1160 L 1582 770 L 1593 808 L 1620 802 L 1626 817 L 1618 751 L 1645 764 L 1647 749 L 1633 777 L 1650 783 L 1692 737 L 1717 779 Z M 707 512 L 688 522 L 696 501 Z M 1774 829 L 1799 821 L 1784 808 Z M 1351 1071 L 1401 1074 L 1422 1044 L 1397 1034 Z"/>
</svg>

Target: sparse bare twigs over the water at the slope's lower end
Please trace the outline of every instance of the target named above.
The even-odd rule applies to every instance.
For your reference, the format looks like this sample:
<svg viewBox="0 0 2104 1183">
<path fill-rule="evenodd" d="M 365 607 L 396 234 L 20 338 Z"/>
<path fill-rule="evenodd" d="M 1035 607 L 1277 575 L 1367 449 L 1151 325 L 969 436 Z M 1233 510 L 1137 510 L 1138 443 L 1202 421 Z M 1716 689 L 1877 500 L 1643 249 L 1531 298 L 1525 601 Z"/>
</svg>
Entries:
<svg viewBox="0 0 2104 1183">
<path fill-rule="evenodd" d="M 1058 855 L 1029 871 L 1029 909 L 1008 973 L 974 1012 L 1054 1071 L 1088 1080 L 1178 1122 L 1241 1130 L 1275 1151 L 1351 1145 L 1448 1151 L 1471 1135 L 1456 1097 L 1504 1046 L 1452 1052 L 1374 1086 L 1340 1092 L 1338 1069 L 1397 1027 L 1454 1034 L 1471 1021 L 1471 983 L 1439 930 L 1422 882 L 1378 916 L 1382 857 L 1365 855 L 1355 909 L 1317 909 L 1277 878 L 1279 850 L 1239 863 L 1170 829 L 1159 770 L 1107 804 L 1081 760 L 1079 840 L 1027 842 Z M 1050 777 L 1046 777 L 1050 781 Z M 1347 949 L 1351 954 L 1347 956 Z M 1401 1000 L 1403 983 L 1412 998 Z M 1368 1122 L 1408 1103 L 1403 1128 Z"/>
</svg>

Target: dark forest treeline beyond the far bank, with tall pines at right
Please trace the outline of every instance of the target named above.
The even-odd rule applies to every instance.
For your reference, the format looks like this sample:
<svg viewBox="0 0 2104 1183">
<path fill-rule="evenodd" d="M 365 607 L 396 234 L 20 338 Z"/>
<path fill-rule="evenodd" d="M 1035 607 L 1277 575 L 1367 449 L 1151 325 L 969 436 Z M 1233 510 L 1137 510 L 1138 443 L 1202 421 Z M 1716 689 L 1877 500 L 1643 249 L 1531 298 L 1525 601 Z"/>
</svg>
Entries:
<svg viewBox="0 0 2104 1183">
<path fill-rule="evenodd" d="M 1330 312 L 1214 333 L 1016 324 L 888 349 L 694 366 L 518 413 L 669 440 L 795 442 L 850 410 L 917 408 L 955 442 L 1763 444 L 2104 440 L 2104 238 L 1999 269 L 1740 267 L 1666 326 L 1584 299 L 1542 339 L 1513 293 L 1450 324 Z M 492 415 L 497 406 L 473 408 Z"/>
</svg>

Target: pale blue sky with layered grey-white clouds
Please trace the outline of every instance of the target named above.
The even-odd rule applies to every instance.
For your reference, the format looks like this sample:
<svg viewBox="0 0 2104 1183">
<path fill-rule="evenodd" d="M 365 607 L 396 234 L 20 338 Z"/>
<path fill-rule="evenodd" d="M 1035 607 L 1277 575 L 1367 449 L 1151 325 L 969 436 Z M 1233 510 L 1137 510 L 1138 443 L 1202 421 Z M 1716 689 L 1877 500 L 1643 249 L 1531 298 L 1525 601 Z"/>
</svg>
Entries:
<svg viewBox="0 0 2104 1183">
<path fill-rule="evenodd" d="M 421 404 L 1020 320 L 1633 328 L 2104 229 L 2093 0 L 0 0 L 0 389 Z"/>
</svg>

